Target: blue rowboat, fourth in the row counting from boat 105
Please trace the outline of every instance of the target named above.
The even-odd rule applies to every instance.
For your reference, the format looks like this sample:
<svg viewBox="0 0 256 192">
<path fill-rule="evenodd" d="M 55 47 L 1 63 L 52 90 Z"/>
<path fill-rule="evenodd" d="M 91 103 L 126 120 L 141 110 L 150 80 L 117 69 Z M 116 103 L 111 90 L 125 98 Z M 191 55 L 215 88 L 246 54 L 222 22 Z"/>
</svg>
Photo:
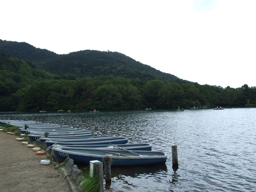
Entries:
<svg viewBox="0 0 256 192">
<path fill-rule="evenodd" d="M 29 136 L 29 135 L 28 135 Z M 48 138 L 45 138 L 45 137 L 41 137 L 39 138 L 39 140 L 41 141 L 41 143 L 43 143 L 44 141 L 46 140 L 51 140 L 51 141 L 63 141 L 63 140 L 81 140 L 81 139 L 86 139 L 86 138 L 102 138 L 102 137 L 108 137 L 108 138 L 113 138 L 113 137 L 116 137 L 116 135 L 100 135 L 100 136 L 97 136 L 97 134 L 95 136 L 92 136 L 91 134 L 88 134 L 88 135 L 84 135 L 84 136 L 72 136 L 72 137 L 48 137 Z"/>
</svg>

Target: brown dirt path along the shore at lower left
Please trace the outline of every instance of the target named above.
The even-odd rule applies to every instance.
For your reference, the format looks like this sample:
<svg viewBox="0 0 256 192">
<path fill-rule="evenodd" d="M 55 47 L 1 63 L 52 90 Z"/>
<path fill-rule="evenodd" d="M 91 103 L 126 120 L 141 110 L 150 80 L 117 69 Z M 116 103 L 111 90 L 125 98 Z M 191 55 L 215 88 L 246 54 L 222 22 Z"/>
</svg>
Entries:
<svg viewBox="0 0 256 192">
<path fill-rule="evenodd" d="M 0 191 L 71 191 L 65 177 L 52 164 L 40 164 L 46 155 L 36 155 L 36 151 L 15 138 L 0 132 Z"/>
</svg>

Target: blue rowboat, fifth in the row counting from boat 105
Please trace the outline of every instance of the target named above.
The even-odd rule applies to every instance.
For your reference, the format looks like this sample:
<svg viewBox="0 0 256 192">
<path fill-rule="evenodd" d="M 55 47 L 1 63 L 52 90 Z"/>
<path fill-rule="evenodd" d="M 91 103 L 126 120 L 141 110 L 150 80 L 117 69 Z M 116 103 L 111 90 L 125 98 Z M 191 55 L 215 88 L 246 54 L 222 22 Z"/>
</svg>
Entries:
<svg viewBox="0 0 256 192">
<path fill-rule="evenodd" d="M 95 133 L 94 134 L 95 136 L 97 136 L 97 133 Z M 92 135 L 91 135 L 91 133 L 89 133 L 89 134 L 81 134 L 81 135 L 70 135 L 70 134 L 66 134 L 66 135 L 53 135 L 53 136 L 51 136 L 51 135 L 49 135 L 48 136 L 48 138 L 46 138 L 46 140 L 47 139 L 49 139 L 49 140 L 52 140 L 52 139 L 60 139 L 60 140 L 64 140 L 64 139 L 78 139 L 78 138 L 80 138 L 80 139 L 82 139 L 82 138 L 87 138 L 87 137 L 91 137 Z M 34 135 L 34 134 L 29 134 L 28 135 L 28 138 L 29 138 L 29 140 L 31 141 L 31 142 L 34 142 L 34 141 L 36 141 L 36 140 L 38 140 L 38 139 L 41 139 L 41 138 L 45 138 L 44 137 L 44 135 Z M 41 142 L 44 142 L 44 141 L 41 141 Z"/>
</svg>

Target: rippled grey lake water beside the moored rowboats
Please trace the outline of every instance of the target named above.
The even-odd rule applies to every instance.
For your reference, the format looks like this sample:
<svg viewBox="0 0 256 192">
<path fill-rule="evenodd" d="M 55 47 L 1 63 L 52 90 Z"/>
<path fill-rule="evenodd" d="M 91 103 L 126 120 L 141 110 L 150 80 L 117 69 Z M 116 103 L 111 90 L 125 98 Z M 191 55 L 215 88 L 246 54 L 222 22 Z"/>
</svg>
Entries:
<svg viewBox="0 0 256 192">
<path fill-rule="evenodd" d="M 0 119 L 64 123 L 148 142 L 165 164 L 111 167 L 109 191 L 256 191 L 256 108 L 0 113 Z M 172 145 L 178 169 L 172 168 Z"/>
</svg>

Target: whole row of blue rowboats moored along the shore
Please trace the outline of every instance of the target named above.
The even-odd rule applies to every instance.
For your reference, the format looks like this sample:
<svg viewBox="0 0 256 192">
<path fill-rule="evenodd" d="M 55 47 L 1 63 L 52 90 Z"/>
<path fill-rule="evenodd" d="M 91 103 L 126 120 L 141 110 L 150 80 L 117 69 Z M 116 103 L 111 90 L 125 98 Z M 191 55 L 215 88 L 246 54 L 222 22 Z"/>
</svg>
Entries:
<svg viewBox="0 0 256 192">
<path fill-rule="evenodd" d="M 94 130 L 22 120 L 0 120 L 0 123 L 19 126 L 21 135 L 28 134 L 31 142 L 40 140 L 47 147 L 52 146 L 53 156 L 59 162 L 70 157 L 76 164 L 90 164 L 92 160 L 102 162 L 110 156 L 112 165 L 120 166 L 165 163 L 167 159 L 164 151 L 152 151 L 148 143 L 128 143 L 126 137 L 98 135 Z"/>
</svg>

